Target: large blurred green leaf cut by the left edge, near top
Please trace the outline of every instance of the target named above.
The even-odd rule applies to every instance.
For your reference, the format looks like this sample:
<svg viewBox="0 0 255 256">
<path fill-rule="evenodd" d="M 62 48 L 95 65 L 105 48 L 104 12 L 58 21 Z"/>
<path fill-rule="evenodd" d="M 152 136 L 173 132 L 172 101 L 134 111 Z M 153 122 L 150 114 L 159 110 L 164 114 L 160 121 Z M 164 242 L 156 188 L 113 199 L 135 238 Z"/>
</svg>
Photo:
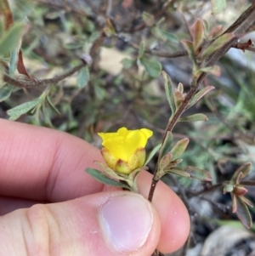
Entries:
<svg viewBox="0 0 255 256">
<path fill-rule="evenodd" d="M 16 23 L 11 26 L 8 31 L 3 33 L 0 40 L 0 55 L 8 54 L 11 50 L 17 47 L 20 42 L 20 37 L 24 29 L 24 24 Z"/>
</svg>

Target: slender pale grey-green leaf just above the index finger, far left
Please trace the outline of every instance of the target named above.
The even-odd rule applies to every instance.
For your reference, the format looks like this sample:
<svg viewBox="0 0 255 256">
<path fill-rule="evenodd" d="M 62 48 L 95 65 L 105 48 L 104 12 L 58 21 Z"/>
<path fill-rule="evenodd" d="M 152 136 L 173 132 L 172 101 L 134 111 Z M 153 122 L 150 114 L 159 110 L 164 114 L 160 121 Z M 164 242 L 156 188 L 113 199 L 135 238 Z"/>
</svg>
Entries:
<svg viewBox="0 0 255 256">
<path fill-rule="evenodd" d="M 31 111 L 35 106 L 42 102 L 42 98 L 37 98 L 36 100 L 31 100 L 20 105 L 15 106 L 14 108 L 7 111 L 10 120 L 16 120 L 21 115 L 26 114 L 28 111 Z"/>
</svg>

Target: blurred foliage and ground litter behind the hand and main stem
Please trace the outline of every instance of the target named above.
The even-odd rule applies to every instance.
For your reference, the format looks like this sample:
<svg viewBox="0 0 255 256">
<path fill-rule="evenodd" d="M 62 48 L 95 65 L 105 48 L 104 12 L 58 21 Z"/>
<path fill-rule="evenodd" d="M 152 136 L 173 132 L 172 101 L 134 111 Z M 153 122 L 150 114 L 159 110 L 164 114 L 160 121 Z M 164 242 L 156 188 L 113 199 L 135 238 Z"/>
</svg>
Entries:
<svg viewBox="0 0 255 256">
<path fill-rule="evenodd" d="M 3 88 L 7 84 L 3 83 L 0 117 L 59 129 L 97 147 L 98 132 L 150 128 L 154 131 L 150 150 L 161 142 L 171 115 L 161 70 L 176 88 L 179 82 L 184 84 L 184 91 L 190 88 L 192 62 L 180 41 L 190 38 L 189 28 L 195 19 L 207 20 L 210 30 L 217 26 L 225 30 L 251 3 L 228 1 L 222 13 L 212 14 L 211 1 L 202 0 L 9 1 L 14 22 L 27 24 L 21 48 L 31 77 L 59 76 L 81 60 L 89 65 L 47 88 L 12 88 L 6 94 Z M 255 40 L 252 30 L 241 40 Z M 221 75 L 208 76 L 201 85 L 215 89 L 184 113 L 201 112 L 208 121 L 178 122 L 173 129 L 174 139 L 190 138 L 184 165 L 208 170 L 213 184 L 229 179 L 243 162 L 255 163 L 254 53 L 231 49 L 218 65 Z M 19 76 L 14 75 L 25 79 Z M 9 110 L 43 95 L 47 100 L 45 96 L 43 102 L 12 117 Z M 152 162 L 150 171 L 154 168 Z M 254 178 L 251 175 L 250 179 Z M 171 176 L 164 181 L 180 196 L 188 197 L 194 221 L 190 247 L 203 243 L 216 226 L 222 225 L 219 219 L 235 219 L 228 195 L 216 191 L 195 199 L 192 191 L 204 188 L 201 182 Z M 248 197 L 255 202 L 252 190 Z"/>
</svg>

